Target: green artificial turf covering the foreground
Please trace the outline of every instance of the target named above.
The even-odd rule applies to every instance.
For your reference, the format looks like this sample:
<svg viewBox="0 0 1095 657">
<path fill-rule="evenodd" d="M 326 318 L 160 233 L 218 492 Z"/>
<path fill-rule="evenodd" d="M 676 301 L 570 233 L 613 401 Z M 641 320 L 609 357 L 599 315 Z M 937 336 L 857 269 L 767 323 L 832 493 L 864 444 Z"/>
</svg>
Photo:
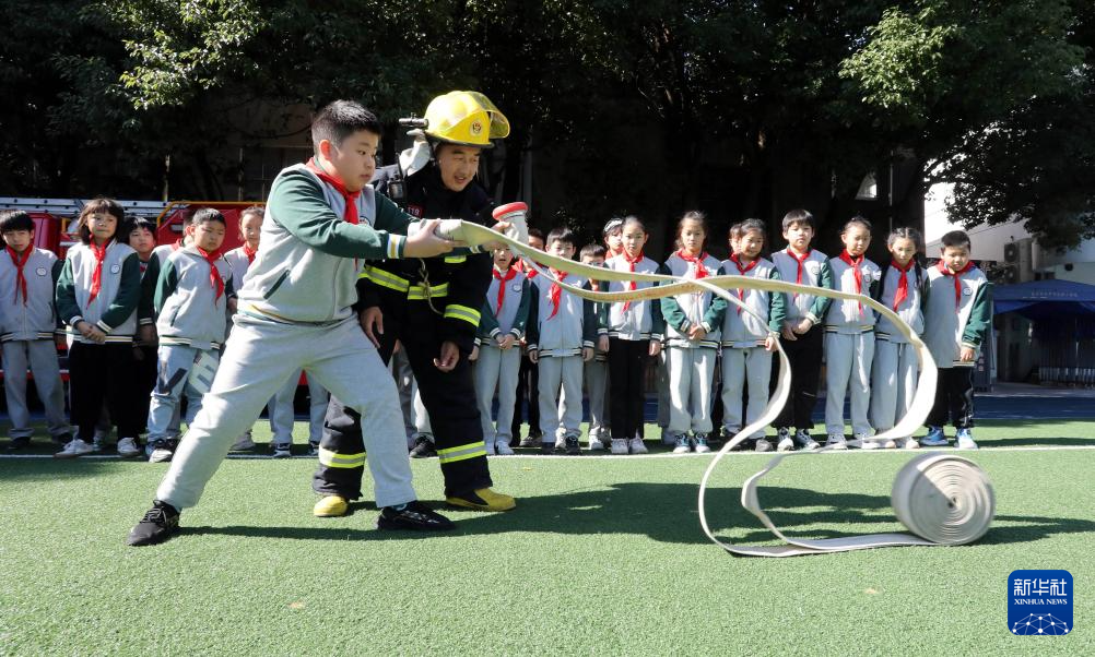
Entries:
<svg viewBox="0 0 1095 657">
<path fill-rule="evenodd" d="M 145 549 L 124 539 L 166 465 L 0 459 L 0 654 L 1092 654 L 1095 449 L 991 449 L 1090 436 L 1095 422 L 982 423 L 989 449 L 966 456 L 998 507 L 978 543 L 783 560 L 703 536 L 710 457 L 492 458 L 518 508 L 449 511 L 458 530 L 430 536 L 377 531 L 371 503 L 312 517 L 312 459 L 234 459 L 185 530 Z M 761 501 L 796 536 L 897 531 L 908 457 L 789 459 Z M 713 478 L 724 538 L 774 542 L 737 503 L 765 461 L 731 455 Z M 440 506 L 436 459 L 413 469 Z M 1073 634 L 1008 633 L 1017 568 L 1072 573 Z"/>
</svg>

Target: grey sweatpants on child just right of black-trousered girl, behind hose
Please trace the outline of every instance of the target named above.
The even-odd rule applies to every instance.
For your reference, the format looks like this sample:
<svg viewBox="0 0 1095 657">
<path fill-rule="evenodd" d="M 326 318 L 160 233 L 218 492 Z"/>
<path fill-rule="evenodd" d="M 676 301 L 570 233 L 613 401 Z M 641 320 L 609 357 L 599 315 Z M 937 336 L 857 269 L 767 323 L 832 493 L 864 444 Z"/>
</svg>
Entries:
<svg viewBox="0 0 1095 657">
<path fill-rule="evenodd" d="M 711 391 L 715 383 L 715 350 L 669 347 L 669 432 L 710 434 Z"/>
</svg>

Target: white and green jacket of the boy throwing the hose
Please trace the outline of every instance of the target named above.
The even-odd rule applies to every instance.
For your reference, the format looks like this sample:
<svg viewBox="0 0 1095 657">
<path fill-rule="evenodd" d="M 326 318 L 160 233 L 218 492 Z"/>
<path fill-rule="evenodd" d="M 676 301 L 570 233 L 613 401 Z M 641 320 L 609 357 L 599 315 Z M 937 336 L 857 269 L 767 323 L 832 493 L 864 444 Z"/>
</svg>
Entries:
<svg viewBox="0 0 1095 657">
<path fill-rule="evenodd" d="M 239 291 L 240 313 L 290 324 L 336 324 L 357 302 L 365 260 L 402 258 L 415 219 L 366 186 L 360 223 L 344 219 L 346 201 L 303 164 L 274 179 L 262 248 Z"/>
</svg>

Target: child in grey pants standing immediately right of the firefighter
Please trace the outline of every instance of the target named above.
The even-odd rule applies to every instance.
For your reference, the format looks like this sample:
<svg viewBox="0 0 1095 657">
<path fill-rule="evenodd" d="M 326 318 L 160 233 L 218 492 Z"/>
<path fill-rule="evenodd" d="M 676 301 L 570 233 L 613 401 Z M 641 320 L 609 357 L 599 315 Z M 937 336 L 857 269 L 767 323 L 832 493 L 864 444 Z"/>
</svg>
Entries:
<svg viewBox="0 0 1095 657">
<path fill-rule="evenodd" d="M 520 340 L 529 320 L 529 281 L 514 267 L 508 247 L 494 249 L 491 286 L 486 292 L 475 338 L 475 396 L 483 422 L 483 442 L 487 454 L 512 456 L 514 404 L 517 374 L 521 367 Z M 498 392 L 498 419 L 491 421 L 491 404 Z"/>
</svg>

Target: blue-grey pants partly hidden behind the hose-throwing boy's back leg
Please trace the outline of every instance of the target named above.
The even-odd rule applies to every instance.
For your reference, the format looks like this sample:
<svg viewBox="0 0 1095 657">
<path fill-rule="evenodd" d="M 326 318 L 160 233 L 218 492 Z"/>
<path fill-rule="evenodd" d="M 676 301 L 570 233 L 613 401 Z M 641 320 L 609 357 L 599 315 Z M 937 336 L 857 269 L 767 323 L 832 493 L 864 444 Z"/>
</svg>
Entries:
<svg viewBox="0 0 1095 657">
<path fill-rule="evenodd" d="M 195 362 L 207 354 L 219 360 L 216 350 L 200 350 L 183 344 L 161 344 L 157 350 L 155 387 L 152 388 L 152 401 L 148 409 L 148 439 L 162 441 L 175 435 L 178 431 L 180 413 L 183 396 L 186 396 L 186 425 L 194 423 L 194 418 L 201 410 L 201 396 L 205 390 L 191 382 L 191 369 Z"/>
</svg>

